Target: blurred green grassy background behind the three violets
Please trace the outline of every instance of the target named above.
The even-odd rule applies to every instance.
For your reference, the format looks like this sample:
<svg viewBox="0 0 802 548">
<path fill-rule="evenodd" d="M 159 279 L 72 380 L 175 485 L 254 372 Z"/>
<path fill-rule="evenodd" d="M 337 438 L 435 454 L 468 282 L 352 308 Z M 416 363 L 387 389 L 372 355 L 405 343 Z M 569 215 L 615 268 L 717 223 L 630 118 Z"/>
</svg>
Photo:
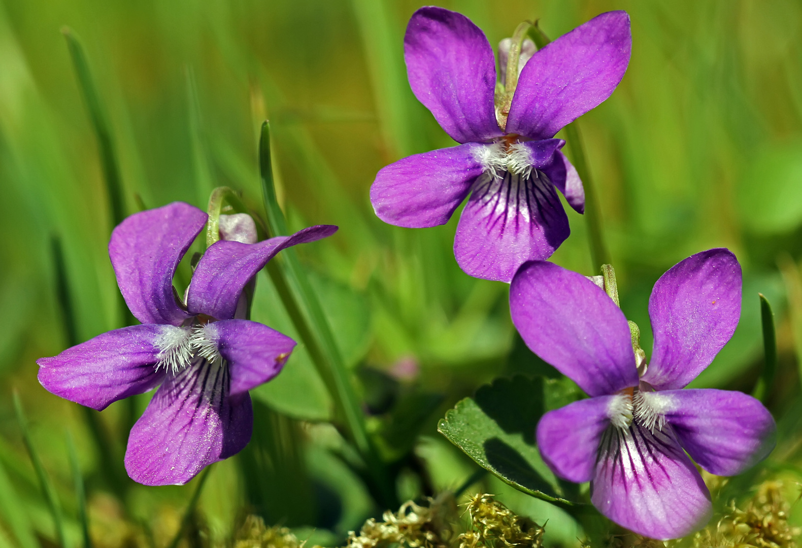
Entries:
<svg viewBox="0 0 802 548">
<path fill-rule="evenodd" d="M 763 292 L 780 346 L 769 397 L 780 441 L 764 469 L 788 474 L 791 484 L 802 478 L 802 5 L 441 5 L 472 18 L 494 46 L 525 19 L 540 19 L 557 38 L 603 11 L 630 13 L 629 70 L 614 95 L 580 119 L 622 308 L 640 325 L 648 354 L 654 281 L 695 252 L 731 248 L 744 271 L 741 324 L 695 385 L 751 391 L 763 364 Z M 405 455 L 396 463 L 399 496 L 454 488 L 476 469 L 436 432 L 446 409 L 495 377 L 550 374 L 514 336 L 507 286 L 474 280 L 456 266 L 458 216 L 444 227 L 411 230 L 383 224 L 371 210 L 368 189 L 379 168 L 454 144 L 407 84 L 403 31 L 419 6 L 0 0 L 0 547 L 55 542 L 14 417 L 14 390 L 63 506 L 70 546 L 80 534 L 67 432 L 98 546 L 140 542 L 132 540 L 135 526 L 150 531 L 149 546 L 167 546 L 192 493 L 192 484 L 145 488 L 119 477 L 128 428 L 148 395 L 92 415 L 36 380 L 34 360 L 66 348 L 70 329 L 86 340 L 124 317 L 107 256 L 112 216 L 97 139 L 63 26 L 86 50 L 128 214 L 174 200 L 205 209 L 221 185 L 261 208 L 257 135 L 270 119 L 279 198 L 292 228 L 340 226 L 298 252 L 371 413 L 368 427 L 381 435 L 388 459 Z M 597 274 L 584 220 L 570 209 L 569 220 L 572 236 L 553 260 Z M 63 249 L 75 312 L 69 326 L 57 298 L 54 242 Z M 188 265 L 181 268 L 179 286 L 189 276 Z M 266 276 L 258 280 L 253 319 L 294 336 Z M 197 519 L 207 540 L 229 538 L 237 520 L 257 512 L 269 523 L 314 530 L 315 542 L 340 542 L 383 510 L 346 465 L 350 449 L 326 423 L 331 398 L 305 349 L 253 398 L 252 444 L 214 466 L 201 498 Z M 577 526 L 566 514 L 495 479 L 482 487 L 538 522 L 550 519 L 549 542 L 576 543 Z M 794 519 L 802 523 L 802 515 Z"/>
</svg>

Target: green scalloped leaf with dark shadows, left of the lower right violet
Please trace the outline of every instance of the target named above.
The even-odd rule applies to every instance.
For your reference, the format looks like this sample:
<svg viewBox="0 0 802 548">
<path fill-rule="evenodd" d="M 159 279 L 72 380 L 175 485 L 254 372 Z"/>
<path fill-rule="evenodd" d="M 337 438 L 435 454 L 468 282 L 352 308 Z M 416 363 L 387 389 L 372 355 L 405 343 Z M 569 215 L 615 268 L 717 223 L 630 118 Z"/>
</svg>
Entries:
<svg viewBox="0 0 802 548">
<path fill-rule="evenodd" d="M 477 464 L 535 498 L 569 508 L 565 493 L 535 446 L 537 421 L 546 411 L 545 380 L 497 379 L 466 397 L 437 429 Z"/>
</svg>

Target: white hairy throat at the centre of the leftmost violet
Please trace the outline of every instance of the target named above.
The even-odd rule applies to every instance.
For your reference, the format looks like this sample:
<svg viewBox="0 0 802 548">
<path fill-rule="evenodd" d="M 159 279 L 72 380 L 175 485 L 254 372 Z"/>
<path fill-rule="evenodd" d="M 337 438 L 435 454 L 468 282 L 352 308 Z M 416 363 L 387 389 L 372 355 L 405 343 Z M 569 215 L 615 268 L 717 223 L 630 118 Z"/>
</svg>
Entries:
<svg viewBox="0 0 802 548">
<path fill-rule="evenodd" d="M 196 324 L 185 327 L 174 325 L 160 326 L 161 332 L 154 345 L 159 353 L 156 355 L 156 371 L 164 368 L 173 375 L 186 368 L 192 361 L 201 357 L 212 364 L 221 364 L 218 343 L 220 332 L 213 323 Z"/>
</svg>

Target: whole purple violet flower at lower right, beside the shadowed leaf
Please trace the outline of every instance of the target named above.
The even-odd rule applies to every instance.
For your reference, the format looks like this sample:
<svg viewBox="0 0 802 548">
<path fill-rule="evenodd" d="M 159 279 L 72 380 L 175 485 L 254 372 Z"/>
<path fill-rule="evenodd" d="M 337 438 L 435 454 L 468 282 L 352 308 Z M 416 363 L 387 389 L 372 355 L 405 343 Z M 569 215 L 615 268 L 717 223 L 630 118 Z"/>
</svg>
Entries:
<svg viewBox="0 0 802 548">
<path fill-rule="evenodd" d="M 585 276 L 533 261 L 512 280 L 512 321 L 526 344 L 590 396 L 541 418 L 543 460 L 560 477 L 591 482 L 593 505 L 635 533 L 679 538 L 710 519 L 691 458 L 731 476 L 774 447 L 774 419 L 755 398 L 683 389 L 730 339 L 740 304 L 741 268 L 727 249 L 674 265 L 650 296 L 646 365 L 624 314 Z"/>
</svg>

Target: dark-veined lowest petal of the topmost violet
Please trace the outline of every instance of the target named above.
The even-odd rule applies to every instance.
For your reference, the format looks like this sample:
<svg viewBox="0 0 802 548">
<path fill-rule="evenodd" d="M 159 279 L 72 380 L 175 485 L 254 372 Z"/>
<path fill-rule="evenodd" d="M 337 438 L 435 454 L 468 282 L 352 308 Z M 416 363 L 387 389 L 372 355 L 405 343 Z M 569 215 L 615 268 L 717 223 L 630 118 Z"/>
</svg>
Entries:
<svg viewBox="0 0 802 548">
<path fill-rule="evenodd" d="M 548 259 L 571 230 L 554 185 L 532 171 L 479 179 L 460 215 L 454 256 L 465 273 L 509 282 L 521 264 Z"/>
</svg>

